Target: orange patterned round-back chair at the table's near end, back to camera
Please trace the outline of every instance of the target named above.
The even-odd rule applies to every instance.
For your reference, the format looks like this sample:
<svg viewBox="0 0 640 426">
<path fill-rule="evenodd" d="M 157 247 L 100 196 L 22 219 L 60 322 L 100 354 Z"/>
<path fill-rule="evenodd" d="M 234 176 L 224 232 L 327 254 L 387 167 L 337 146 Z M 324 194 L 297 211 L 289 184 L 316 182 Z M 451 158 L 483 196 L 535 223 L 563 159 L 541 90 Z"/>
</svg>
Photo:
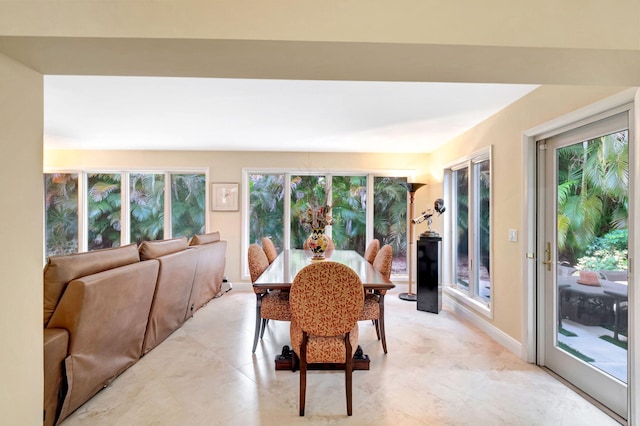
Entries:
<svg viewBox="0 0 640 426">
<path fill-rule="evenodd" d="M 291 285 L 291 346 L 300 361 L 300 415 L 304 416 L 307 364 L 344 363 L 347 414 L 352 413 L 353 355 L 364 289 L 346 265 L 323 261 L 305 266 Z"/>
</svg>

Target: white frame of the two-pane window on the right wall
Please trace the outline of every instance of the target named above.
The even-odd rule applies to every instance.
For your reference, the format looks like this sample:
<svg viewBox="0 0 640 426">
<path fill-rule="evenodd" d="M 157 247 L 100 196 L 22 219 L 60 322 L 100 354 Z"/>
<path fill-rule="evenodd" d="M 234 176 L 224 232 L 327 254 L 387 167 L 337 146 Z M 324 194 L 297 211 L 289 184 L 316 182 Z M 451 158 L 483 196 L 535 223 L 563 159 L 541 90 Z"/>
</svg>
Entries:
<svg viewBox="0 0 640 426">
<path fill-rule="evenodd" d="M 488 146 L 482 150 L 476 151 L 470 155 L 453 161 L 444 167 L 444 194 L 446 199 L 450 200 L 451 214 L 447 215 L 445 220 L 443 239 L 443 282 L 445 282 L 444 290 L 448 296 L 455 301 L 461 303 L 465 307 L 472 309 L 488 318 L 493 318 L 493 275 L 489 274 L 489 299 L 482 297 L 479 293 L 479 262 L 480 257 L 480 179 L 479 165 L 485 161 L 489 162 L 489 268 L 493 271 L 493 155 L 492 146 Z M 455 172 L 468 169 L 468 256 L 469 256 L 469 287 L 468 289 L 460 288 L 455 283 L 457 276 L 457 199 L 456 199 L 456 182 Z"/>
</svg>

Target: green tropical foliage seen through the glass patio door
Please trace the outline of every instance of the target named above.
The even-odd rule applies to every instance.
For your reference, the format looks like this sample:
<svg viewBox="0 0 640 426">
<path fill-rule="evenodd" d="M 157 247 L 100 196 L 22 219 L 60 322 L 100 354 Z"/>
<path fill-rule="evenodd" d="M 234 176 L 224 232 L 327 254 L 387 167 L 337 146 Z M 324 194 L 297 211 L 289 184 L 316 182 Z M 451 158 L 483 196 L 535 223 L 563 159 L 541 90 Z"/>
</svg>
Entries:
<svg viewBox="0 0 640 426">
<path fill-rule="evenodd" d="M 558 261 L 627 270 L 627 130 L 558 150 Z"/>
</svg>

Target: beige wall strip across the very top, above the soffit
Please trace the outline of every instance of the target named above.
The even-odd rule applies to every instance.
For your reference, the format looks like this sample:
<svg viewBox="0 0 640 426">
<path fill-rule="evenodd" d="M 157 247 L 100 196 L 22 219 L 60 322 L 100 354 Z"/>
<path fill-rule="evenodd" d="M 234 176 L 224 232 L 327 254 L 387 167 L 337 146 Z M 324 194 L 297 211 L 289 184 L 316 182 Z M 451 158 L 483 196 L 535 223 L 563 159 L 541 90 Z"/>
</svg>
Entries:
<svg viewBox="0 0 640 426">
<path fill-rule="evenodd" d="M 638 49 L 638 13 L 637 0 L 30 0 L 0 4 L 0 33 Z"/>
</svg>

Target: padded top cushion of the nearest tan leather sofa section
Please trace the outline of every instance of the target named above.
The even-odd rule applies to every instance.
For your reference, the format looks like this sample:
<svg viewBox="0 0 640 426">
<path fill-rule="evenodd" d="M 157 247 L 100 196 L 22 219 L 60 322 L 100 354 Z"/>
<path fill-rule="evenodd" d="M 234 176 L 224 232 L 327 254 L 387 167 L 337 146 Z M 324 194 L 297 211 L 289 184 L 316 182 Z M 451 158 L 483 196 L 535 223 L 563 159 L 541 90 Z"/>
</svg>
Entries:
<svg viewBox="0 0 640 426">
<path fill-rule="evenodd" d="M 50 257 L 44 267 L 44 326 L 70 281 L 139 261 L 135 244 Z"/>
</svg>

